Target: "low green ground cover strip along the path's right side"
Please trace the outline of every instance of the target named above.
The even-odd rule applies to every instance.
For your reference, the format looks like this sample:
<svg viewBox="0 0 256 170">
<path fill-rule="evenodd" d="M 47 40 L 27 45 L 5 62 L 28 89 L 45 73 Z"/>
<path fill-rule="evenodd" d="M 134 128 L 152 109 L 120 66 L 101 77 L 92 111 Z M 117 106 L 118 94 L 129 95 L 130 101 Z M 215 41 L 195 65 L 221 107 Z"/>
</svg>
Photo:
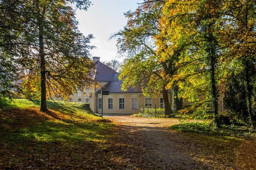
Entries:
<svg viewBox="0 0 256 170">
<path fill-rule="evenodd" d="M 172 125 L 172 130 L 184 133 L 198 133 L 207 136 L 230 136 L 256 138 L 256 131 L 248 126 L 222 125 L 221 128 L 212 126 L 211 122 L 189 122 Z"/>
</svg>

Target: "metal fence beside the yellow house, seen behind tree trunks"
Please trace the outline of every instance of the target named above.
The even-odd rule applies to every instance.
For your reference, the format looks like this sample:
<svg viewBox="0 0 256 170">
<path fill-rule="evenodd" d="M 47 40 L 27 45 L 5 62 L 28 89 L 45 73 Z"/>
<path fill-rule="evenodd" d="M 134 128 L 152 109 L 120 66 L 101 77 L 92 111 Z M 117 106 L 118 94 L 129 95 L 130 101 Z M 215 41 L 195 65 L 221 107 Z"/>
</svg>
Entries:
<svg viewBox="0 0 256 170">
<path fill-rule="evenodd" d="M 181 102 L 178 103 L 177 105 L 177 111 L 181 110 L 181 109 L 185 109 L 185 108 L 189 108 L 192 106 L 191 102 Z M 165 115 L 165 109 L 164 106 L 162 106 L 161 108 L 157 108 L 156 104 L 154 105 L 140 105 L 139 106 L 139 111 L 141 114 L 146 115 L 146 116 L 164 116 Z M 186 115 L 192 115 L 193 112 L 188 112 L 186 113 Z M 204 110 L 204 114 L 205 115 L 214 115 L 214 108 L 212 108 L 210 105 L 206 106 L 205 110 Z M 218 114 L 220 115 L 227 115 L 227 109 L 225 108 L 224 105 L 222 105 L 222 101 L 219 102 L 218 105 Z M 175 113 L 175 116 L 180 116 L 179 113 Z"/>
</svg>

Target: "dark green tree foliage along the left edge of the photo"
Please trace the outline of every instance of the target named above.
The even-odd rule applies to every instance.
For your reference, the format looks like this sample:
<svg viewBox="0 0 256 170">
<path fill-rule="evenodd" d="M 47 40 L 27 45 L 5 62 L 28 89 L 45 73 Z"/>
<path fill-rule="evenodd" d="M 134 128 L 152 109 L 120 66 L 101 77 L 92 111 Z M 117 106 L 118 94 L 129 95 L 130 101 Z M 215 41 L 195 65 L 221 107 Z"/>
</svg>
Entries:
<svg viewBox="0 0 256 170">
<path fill-rule="evenodd" d="M 16 12 L 23 7 L 23 3 L 17 0 L 2 0 L 0 3 L 0 94 L 10 95 L 10 89 L 14 87 L 13 81 L 18 78 L 23 57 L 29 54 L 29 48 L 20 36 L 25 26 L 24 15 Z"/>
</svg>

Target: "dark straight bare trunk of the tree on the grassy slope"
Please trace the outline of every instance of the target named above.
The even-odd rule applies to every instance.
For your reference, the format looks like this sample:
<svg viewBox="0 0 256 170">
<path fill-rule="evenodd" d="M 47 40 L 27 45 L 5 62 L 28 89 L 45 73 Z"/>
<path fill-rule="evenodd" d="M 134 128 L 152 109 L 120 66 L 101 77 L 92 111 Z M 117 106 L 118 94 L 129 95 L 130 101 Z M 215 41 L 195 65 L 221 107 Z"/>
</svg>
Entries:
<svg viewBox="0 0 256 170">
<path fill-rule="evenodd" d="M 43 10 L 42 16 L 44 16 L 45 8 Z M 41 74 L 41 111 L 48 111 L 46 104 L 46 69 L 45 69 L 45 54 L 44 54 L 44 40 L 43 40 L 43 26 L 42 18 L 38 20 L 39 26 L 39 56 L 40 56 L 40 74 Z"/>
</svg>

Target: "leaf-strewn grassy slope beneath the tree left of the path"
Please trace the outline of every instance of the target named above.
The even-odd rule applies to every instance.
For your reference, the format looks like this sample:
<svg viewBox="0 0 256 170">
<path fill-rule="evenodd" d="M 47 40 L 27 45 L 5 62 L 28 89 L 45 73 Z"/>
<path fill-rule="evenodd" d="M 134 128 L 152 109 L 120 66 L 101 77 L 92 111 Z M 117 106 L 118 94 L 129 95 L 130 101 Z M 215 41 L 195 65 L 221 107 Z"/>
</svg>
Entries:
<svg viewBox="0 0 256 170">
<path fill-rule="evenodd" d="M 104 158 L 115 125 L 100 121 L 87 104 L 77 103 L 65 110 L 47 101 L 49 112 L 44 113 L 39 111 L 39 101 L 14 102 L 12 109 L 0 110 L 0 169 L 119 166 Z"/>
</svg>

